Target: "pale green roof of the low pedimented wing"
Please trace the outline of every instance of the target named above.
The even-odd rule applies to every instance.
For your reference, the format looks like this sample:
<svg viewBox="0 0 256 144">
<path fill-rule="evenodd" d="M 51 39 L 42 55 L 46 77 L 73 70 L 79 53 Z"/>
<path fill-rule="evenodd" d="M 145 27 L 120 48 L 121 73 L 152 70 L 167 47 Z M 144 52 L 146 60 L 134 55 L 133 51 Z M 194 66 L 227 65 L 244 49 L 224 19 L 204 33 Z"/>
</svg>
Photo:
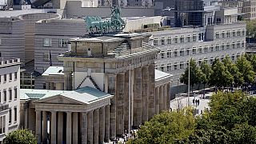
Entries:
<svg viewBox="0 0 256 144">
<path fill-rule="evenodd" d="M 81 102 L 83 104 L 90 104 L 91 102 L 98 101 L 104 98 L 113 97 L 111 94 L 104 93 L 100 90 L 91 87 L 82 87 L 78 90 L 33 90 L 33 89 L 21 89 L 21 100 L 35 99 L 38 102 L 43 101 L 46 98 L 55 96 L 62 96 L 65 98 L 73 99 L 74 101 Z"/>
</svg>

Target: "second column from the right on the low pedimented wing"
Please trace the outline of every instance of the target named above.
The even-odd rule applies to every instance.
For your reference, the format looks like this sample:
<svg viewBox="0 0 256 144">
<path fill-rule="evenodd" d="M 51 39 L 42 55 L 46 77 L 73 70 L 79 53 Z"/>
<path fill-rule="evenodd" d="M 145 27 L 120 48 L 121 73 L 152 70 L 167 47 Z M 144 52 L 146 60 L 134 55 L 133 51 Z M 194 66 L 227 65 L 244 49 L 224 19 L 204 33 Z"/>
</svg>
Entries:
<svg viewBox="0 0 256 144">
<path fill-rule="evenodd" d="M 99 143 L 103 143 L 105 138 L 105 107 L 99 109 Z"/>
</svg>

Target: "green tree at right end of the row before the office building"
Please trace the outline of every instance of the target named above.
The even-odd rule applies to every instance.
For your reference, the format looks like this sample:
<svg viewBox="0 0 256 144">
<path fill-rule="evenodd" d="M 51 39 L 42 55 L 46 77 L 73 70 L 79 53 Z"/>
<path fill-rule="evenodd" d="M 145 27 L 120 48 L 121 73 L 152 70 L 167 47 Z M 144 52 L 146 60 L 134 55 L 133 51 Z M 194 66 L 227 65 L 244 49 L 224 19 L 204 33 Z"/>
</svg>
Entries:
<svg viewBox="0 0 256 144">
<path fill-rule="evenodd" d="M 242 74 L 243 81 L 247 84 L 253 83 L 255 78 L 255 73 L 253 70 L 253 66 L 246 59 L 245 56 L 241 56 L 238 58 L 236 62 L 236 66 L 238 67 L 239 72 Z"/>
</svg>

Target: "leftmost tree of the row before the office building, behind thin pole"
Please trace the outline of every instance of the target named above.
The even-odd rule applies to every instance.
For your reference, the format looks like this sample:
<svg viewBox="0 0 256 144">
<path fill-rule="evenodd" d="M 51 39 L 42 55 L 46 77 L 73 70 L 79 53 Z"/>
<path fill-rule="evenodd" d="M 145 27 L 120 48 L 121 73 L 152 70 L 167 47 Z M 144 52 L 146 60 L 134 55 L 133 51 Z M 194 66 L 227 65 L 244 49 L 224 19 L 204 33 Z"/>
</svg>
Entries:
<svg viewBox="0 0 256 144">
<path fill-rule="evenodd" d="M 190 85 L 192 87 L 192 91 L 193 91 L 193 86 L 200 83 L 201 75 L 202 75 L 202 71 L 197 66 L 197 63 L 195 62 L 195 60 L 191 59 L 190 60 Z M 188 85 L 189 67 L 186 67 L 185 72 L 181 75 L 180 81 Z"/>
</svg>

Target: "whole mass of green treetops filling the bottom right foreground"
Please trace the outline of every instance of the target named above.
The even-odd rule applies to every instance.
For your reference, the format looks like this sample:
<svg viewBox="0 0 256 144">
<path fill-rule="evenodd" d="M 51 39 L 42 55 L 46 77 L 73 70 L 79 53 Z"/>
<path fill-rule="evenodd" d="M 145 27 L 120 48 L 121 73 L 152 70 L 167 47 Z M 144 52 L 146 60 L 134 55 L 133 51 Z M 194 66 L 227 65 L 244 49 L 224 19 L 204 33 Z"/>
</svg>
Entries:
<svg viewBox="0 0 256 144">
<path fill-rule="evenodd" d="M 209 106 L 199 117 L 188 109 L 158 114 L 128 143 L 256 143 L 256 98 L 218 91 Z"/>
</svg>

